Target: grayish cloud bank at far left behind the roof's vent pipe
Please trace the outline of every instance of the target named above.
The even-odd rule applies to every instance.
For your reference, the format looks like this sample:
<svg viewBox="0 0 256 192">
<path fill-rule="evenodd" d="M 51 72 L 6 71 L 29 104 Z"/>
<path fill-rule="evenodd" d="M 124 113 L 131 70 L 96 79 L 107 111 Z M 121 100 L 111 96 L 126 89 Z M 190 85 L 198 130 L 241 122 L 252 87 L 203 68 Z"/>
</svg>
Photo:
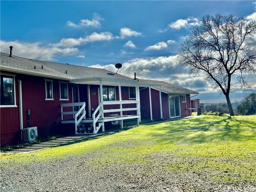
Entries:
<svg viewBox="0 0 256 192">
<path fill-rule="evenodd" d="M 30 58 L 52 60 L 57 54 L 67 55 L 78 52 L 77 48 L 73 47 L 54 47 L 52 45 L 41 45 L 41 43 L 25 43 L 20 41 L 0 41 L 1 52 L 9 53 L 9 46 L 13 46 L 13 54 Z"/>
</svg>

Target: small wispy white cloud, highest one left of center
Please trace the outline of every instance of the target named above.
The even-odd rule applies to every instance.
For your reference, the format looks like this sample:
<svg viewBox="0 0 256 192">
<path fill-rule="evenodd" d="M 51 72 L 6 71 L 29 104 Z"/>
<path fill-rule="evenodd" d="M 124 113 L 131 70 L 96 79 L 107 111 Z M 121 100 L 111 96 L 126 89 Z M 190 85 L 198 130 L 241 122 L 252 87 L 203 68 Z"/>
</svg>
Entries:
<svg viewBox="0 0 256 192">
<path fill-rule="evenodd" d="M 78 24 L 75 24 L 74 22 L 71 22 L 71 21 L 67 21 L 67 25 L 73 28 L 100 27 L 101 26 L 100 20 L 103 20 L 103 18 L 101 18 L 98 13 L 93 13 L 92 20 L 81 19 Z"/>
</svg>

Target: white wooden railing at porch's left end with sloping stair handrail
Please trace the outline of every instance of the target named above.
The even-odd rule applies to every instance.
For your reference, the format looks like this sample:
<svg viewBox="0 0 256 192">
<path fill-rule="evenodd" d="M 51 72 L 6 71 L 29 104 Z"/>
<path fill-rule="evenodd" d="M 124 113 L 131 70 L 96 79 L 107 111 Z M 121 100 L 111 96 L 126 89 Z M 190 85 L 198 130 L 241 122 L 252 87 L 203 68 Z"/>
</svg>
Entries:
<svg viewBox="0 0 256 192">
<path fill-rule="evenodd" d="M 76 102 L 76 103 L 62 103 L 61 105 L 61 121 L 63 121 L 64 115 L 73 115 L 75 120 L 75 129 L 76 134 L 78 133 L 78 125 L 81 123 L 82 119 L 85 119 L 85 102 Z M 72 107 L 72 111 L 63 111 L 64 107 Z M 75 107 L 79 107 L 78 111 L 74 111 Z"/>
</svg>

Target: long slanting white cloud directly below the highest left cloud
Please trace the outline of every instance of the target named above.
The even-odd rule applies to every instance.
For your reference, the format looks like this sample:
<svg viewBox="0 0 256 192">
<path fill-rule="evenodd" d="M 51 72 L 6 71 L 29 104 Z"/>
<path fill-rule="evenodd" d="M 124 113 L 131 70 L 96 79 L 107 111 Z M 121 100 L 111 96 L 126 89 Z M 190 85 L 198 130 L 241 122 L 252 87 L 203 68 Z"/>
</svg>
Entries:
<svg viewBox="0 0 256 192">
<path fill-rule="evenodd" d="M 96 41 L 110 41 L 113 39 L 113 35 L 110 32 L 96 33 L 93 32 L 91 35 L 79 38 L 62 38 L 59 43 L 54 44 L 57 47 L 73 47 L 82 45 L 85 43 L 96 42 Z"/>
</svg>

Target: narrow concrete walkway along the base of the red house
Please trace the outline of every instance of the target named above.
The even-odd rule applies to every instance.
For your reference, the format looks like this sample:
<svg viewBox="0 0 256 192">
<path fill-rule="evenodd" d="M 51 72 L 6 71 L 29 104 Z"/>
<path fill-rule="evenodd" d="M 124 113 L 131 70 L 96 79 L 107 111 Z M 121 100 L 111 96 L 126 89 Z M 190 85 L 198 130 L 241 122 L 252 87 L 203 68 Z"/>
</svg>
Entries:
<svg viewBox="0 0 256 192">
<path fill-rule="evenodd" d="M 26 148 L 14 149 L 12 151 L 6 151 L 6 153 L 32 153 L 32 152 L 42 150 L 42 149 L 46 149 L 46 148 L 50 148 L 50 147 L 57 147 L 57 146 L 61 146 L 61 145 L 67 145 L 67 144 L 70 144 L 70 143 L 86 140 L 86 139 L 89 139 L 89 138 L 100 137 L 100 136 L 105 135 L 105 134 L 108 134 L 108 133 L 99 133 L 99 134 L 95 134 L 95 135 L 76 135 L 76 136 L 71 136 L 71 137 L 61 137 L 61 138 L 58 138 L 58 139 L 38 143 L 38 144 L 29 146 L 29 147 L 26 147 Z"/>
</svg>

